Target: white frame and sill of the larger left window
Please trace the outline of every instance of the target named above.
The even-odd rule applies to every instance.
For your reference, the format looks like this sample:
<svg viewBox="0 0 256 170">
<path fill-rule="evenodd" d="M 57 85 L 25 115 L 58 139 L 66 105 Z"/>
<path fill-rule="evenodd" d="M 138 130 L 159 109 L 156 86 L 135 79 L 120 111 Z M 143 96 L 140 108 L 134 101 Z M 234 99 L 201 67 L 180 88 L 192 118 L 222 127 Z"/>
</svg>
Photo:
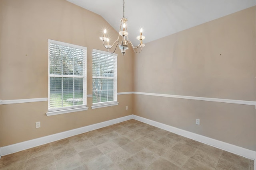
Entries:
<svg viewBox="0 0 256 170">
<path fill-rule="evenodd" d="M 87 47 L 48 39 L 48 45 L 50 45 L 50 43 L 55 43 L 55 44 L 58 44 L 58 45 L 64 45 L 64 46 L 68 46 L 68 47 L 83 49 L 83 54 L 84 54 L 83 71 L 84 71 L 84 74 L 83 74 L 83 76 L 50 74 L 50 57 L 49 57 L 49 54 L 48 54 L 48 112 L 46 113 L 46 115 L 47 116 L 49 116 L 49 115 L 58 115 L 58 114 L 75 112 L 75 111 L 87 110 L 88 109 L 88 107 L 86 107 L 86 104 L 87 104 L 87 95 L 86 95 L 87 94 L 87 84 L 86 84 L 87 83 L 87 70 L 86 70 L 86 66 L 87 66 Z M 50 52 L 49 49 L 48 49 L 48 52 Z M 83 104 L 78 105 L 78 106 L 70 106 L 70 107 L 50 108 L 50 77 L 83 78 Z"/>
</svg>

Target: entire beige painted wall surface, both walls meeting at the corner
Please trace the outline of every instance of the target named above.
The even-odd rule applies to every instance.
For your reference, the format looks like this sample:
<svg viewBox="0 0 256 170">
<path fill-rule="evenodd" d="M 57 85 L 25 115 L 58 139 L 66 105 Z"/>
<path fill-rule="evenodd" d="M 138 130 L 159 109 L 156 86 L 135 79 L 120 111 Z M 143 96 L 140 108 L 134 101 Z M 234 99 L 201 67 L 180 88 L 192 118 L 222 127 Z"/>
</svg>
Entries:
<svg viewBox="0 0 256 170">
<path fill-rule="evenodd" d="M 147 43 L 135 57 L 118 50 L 118 92 L 256 101 L 255 15 L 253 7 L 198 25 Z M 0 21 L 1 100 L 48 97 L 48 39 L 88 48 L 92 94 L 92 49 L 104 50 L 98 37 L 105 27 L 117 35 L 102 17 L 66 0 L 1 0 Z M 0 147 L 134 113 L 256 150 L 254 106 L 135 94 L 119 95 L 118 102 L 49 117 L 47 102 L 0 105 Z"/>
</svg>

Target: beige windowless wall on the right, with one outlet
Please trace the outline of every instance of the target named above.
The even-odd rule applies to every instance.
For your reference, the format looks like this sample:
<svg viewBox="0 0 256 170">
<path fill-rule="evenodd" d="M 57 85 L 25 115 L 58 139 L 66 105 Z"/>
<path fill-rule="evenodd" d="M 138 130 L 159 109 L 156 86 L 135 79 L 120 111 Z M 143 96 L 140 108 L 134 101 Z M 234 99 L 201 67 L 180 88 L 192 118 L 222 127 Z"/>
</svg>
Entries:
<svg viewBox="0 0 256 170">
<path fill-rule="evenodd" d="M 134 91 L 256 101 L 255 16 L 252 7 L 147 43 Z M 134 114 L 256 150 L 255 106 L 134 95 Z"/>
</svg>

